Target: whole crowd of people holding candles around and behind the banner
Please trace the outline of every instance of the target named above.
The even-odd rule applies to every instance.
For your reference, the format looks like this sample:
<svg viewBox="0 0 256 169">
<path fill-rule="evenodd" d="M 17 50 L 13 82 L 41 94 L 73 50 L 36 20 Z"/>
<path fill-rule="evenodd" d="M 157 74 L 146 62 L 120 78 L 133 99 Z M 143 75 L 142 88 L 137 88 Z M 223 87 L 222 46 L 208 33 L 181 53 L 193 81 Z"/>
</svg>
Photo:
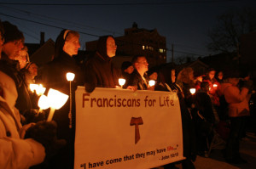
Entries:
<svg viewBox="0 0 256 169">
<path fill-rule="evenodd" d="M 216 73 L 209 69 L 199 74 L 190 67 L 176 72 L 175 66 L 148 70 L 143 55 L 125 61 L 118 69 L 112 62 L 117 50 L 113 36 L 100 37 L 95 55 L 79 63 L 74 58 L 80 48 L 79 32 L 66 29 L 56 38 L 54 59 L 38 68 L 29 59 L 18 27 L 9 21 L 0 24 L 0 168 L 73 168 L 76 87 L 84 86 L 88 93 L 95 87 L 119 88 L 119 77 L 126 80 L 124 88 L 132 91 L 177 93 L 186 157 L 181 161 L 183 168 L 195 168 L 196 155 L 207 155 L 214 134 L 224 140 L 228 162 L 246 162 L 239 154 L 239 140 L 245 134 L 253 93 L 248 73 L 241 76 L 237 70 Z M 29 84 L 42 83 L 68 95 L 67 72 L 75 74 L 72 104 L 56 110 L 59 113 L 53 121 L 45 121 L 47 111 L 38 114 L 38 96 L 29 90 Z M 149 80 L 155 84 L 149 85 Z"/>
</svg>

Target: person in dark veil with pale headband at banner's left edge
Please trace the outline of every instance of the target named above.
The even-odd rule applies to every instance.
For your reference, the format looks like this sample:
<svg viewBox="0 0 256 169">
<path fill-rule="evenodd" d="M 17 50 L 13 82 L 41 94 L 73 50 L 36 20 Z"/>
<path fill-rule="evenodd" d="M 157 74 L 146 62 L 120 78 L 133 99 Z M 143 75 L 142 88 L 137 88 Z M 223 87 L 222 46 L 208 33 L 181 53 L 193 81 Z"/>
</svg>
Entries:
<svg viewBox="0 0 256 169">
<path fill-rule="evenodd" d="M 74 93 L 78 86 L 84 85 L 84 76 L 81 65 L 74 58 L 79 53 L 80 42 L 79 32 L 62 30 L 55 41 L 54 59 L 38 71 L 38 82 L 44 87 L 53 88 L 70 94 L 70 82 L 67 81 L 67 73 L 73 73 L 74 79 L 71 83 L 71 113 L 70 99 L 61 107 L 55 110 L 53 120 L 56 121 L 57 136 L 67 141 L 67 145 L 61 149 L 58 155 L 51 161 L 53 168 L 73 168 L 74 158 L 74 132 L 75 132 L 75 97 Z"/>
</svg>

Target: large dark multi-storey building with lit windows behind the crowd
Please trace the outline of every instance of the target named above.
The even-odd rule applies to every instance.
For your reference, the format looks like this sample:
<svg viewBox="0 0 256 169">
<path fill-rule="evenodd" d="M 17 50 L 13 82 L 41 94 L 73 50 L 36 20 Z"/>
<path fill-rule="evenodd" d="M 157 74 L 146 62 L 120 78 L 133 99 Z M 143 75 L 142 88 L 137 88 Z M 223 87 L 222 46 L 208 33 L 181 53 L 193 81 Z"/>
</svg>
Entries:
<svg viewBox="0 0 256 169">
<path fill-rule="evenodd" d="M 114 37 L 118 46 L 114 62 L 120 66 L 121 61 L 130 60 L 135 55 L 144 55 L 148 59 L 149 66 L 166 63 L 166 37 L 160 36 L 156 29 L 147 30 L 138 28 L 133 23 L 131 28 L 125 29 L 125 35 Z M 86 42 L 87 51 L 96 50 L 96 42 Z"/>
</svg>

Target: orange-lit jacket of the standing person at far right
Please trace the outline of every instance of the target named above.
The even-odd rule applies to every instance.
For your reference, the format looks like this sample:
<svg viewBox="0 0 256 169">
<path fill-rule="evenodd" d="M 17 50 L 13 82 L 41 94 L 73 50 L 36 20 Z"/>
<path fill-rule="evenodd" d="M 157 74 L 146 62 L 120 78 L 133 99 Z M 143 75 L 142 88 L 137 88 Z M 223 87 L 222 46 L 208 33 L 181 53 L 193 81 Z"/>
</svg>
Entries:
<svg viewBox="0 0 256 169">
<path fill-rule="evenodd" d="M 237 117 L 250 115 L 248 105 L 248 89 L 232 86 L 230 83 L 223 83 L 221 91 L 224 93 L 224 98 L 229 104 L 229 116 Z"/>
</svg>

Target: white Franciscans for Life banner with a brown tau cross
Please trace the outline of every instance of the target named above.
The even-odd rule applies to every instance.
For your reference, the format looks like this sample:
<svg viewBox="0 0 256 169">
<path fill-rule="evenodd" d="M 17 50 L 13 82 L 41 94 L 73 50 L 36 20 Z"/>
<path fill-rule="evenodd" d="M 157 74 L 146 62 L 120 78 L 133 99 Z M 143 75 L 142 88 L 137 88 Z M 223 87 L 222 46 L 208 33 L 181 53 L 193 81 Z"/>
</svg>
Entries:
<svg viewBox="0 0 256 169">
<path fill-rule="evenodd" d="M 183 160 L 176 93 L 76 91 L 75 169 L 143 169 Z"/>
</svg>

